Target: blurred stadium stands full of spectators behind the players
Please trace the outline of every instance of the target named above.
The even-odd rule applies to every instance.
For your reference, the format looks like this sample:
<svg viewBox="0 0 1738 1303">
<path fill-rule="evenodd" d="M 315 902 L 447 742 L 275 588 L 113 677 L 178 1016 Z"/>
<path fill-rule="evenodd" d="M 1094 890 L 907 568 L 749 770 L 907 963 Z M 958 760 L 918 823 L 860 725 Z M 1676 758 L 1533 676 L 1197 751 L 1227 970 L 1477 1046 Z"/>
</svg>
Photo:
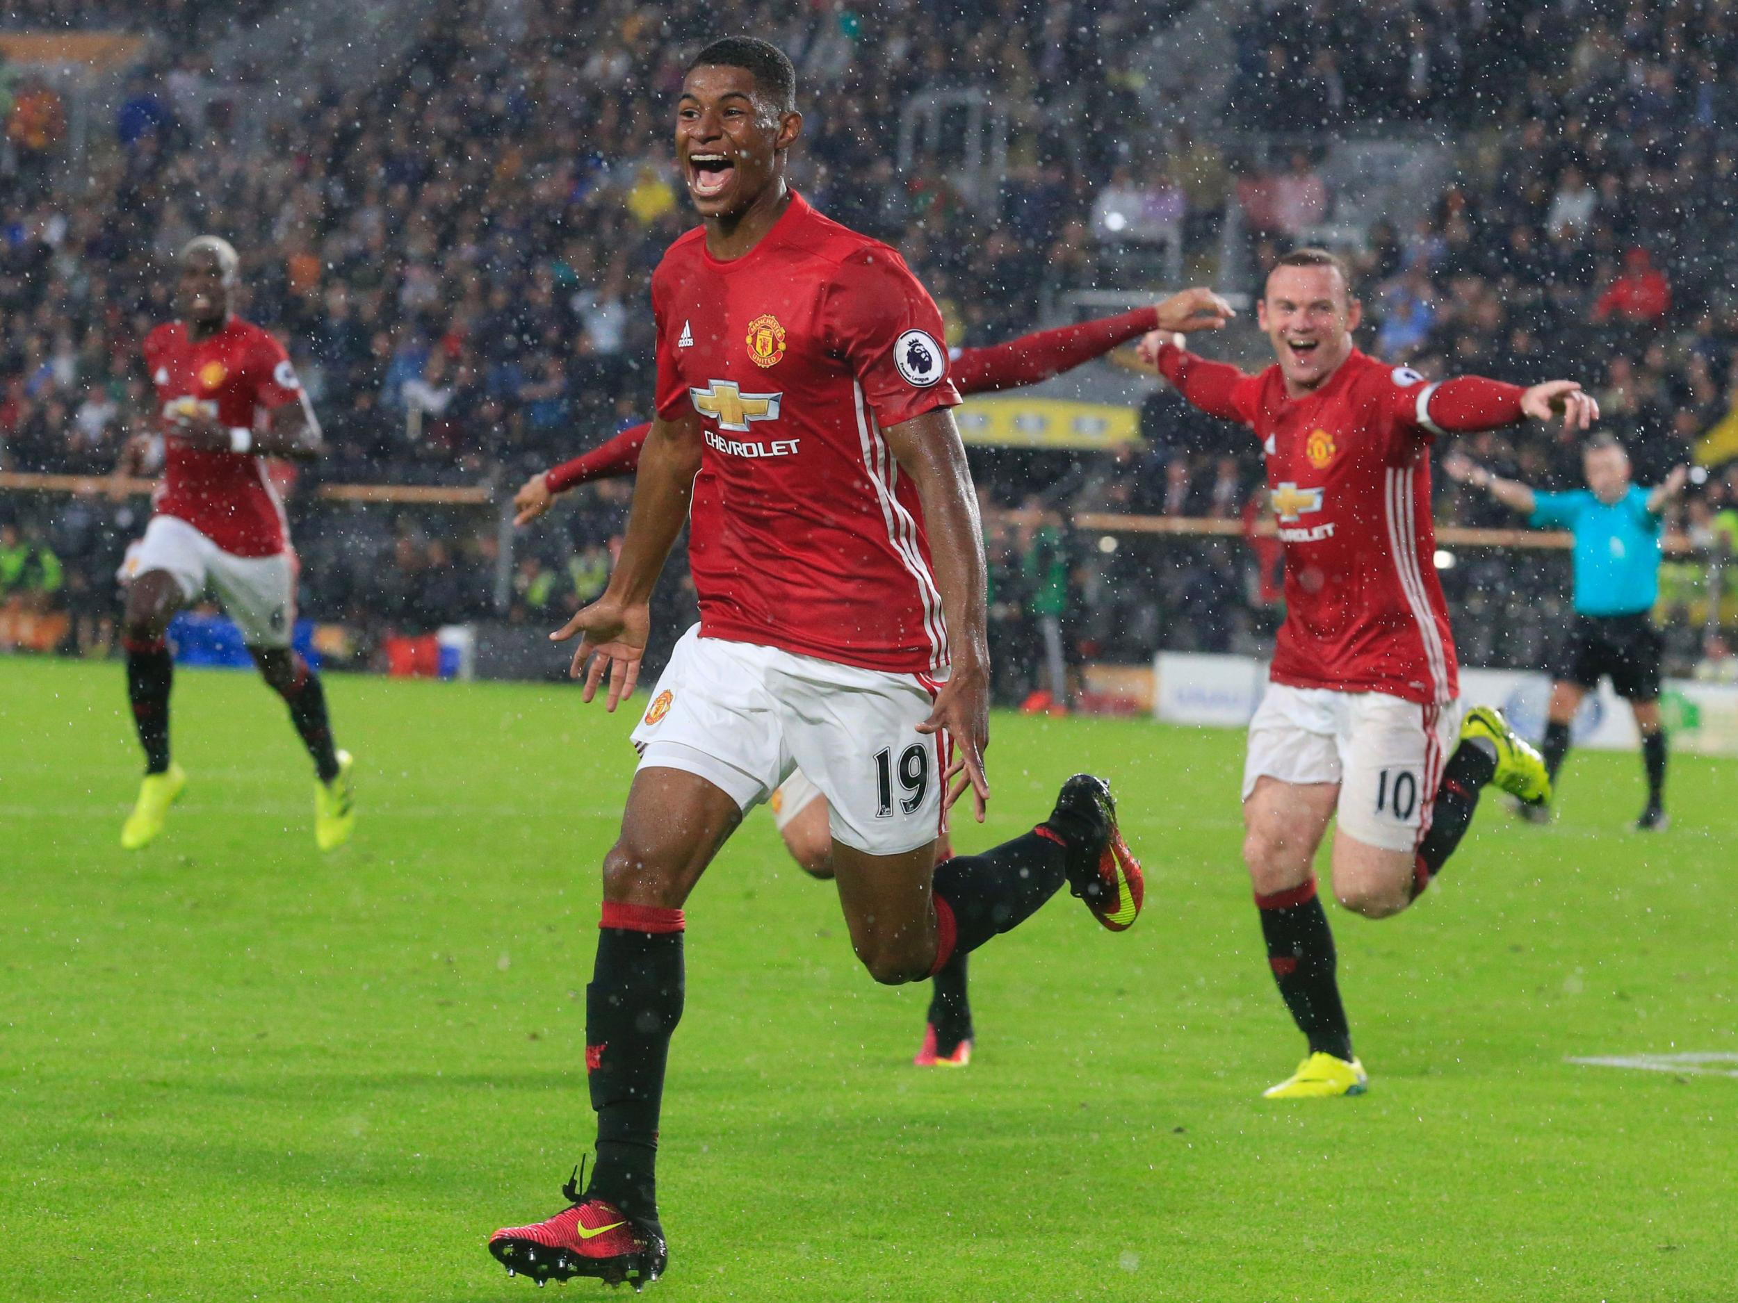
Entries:
<svg viewBox="0 0 1738 1303">
<path fill-rule="evenodd" d="M 111 646 L 143 499 L 19 476 L 113 466 L 144 405 L 137 342 L 169 314 L 163 257 L 212 229 L 334 448 L 292 483 L 325 664 L 421 669 L 428 636 L 462 625 L 468 669 L 554 672 L 537 632 L 601 587 L 627 488 L 580 488 L 521 533 L 504 504 L 647 413 L 647 278 L 688 222 L 666 99 L 702 36 L 740 28 L 796 59 L 799 186 L 900 247 L 954 344 L 1184 283 L 1248 295 L 1277 252 L 1321 241 L 1357 266 L 1366 347 L 1432 375 L 1580 379 L 1642 481 L 1710 466 L 1674 513 L 1660 615 L 1674 674 L 1731 679 L 1738 580 L 1710 601 L 1708 579 L 1738 537 L 1731 26 L 1724 5 L 1458 0 L 12 3 L 0 519 L 35 559 L 3 572 L 0 643 Z M 1208 347 L 1258 365 L 1265 344 L 1246 314 Z M 1149 678 L 1118 669 L 1161 650 L 1264 653 L 1272 559 L 1239 528 L 1260 460 L 1237 431 L 1109 363 L 965 415 L 1003 700 L 1045 686 L 1036 589 L 1057 556 L 1088 705 L 1149 705 Z M 1542 427 L 1470 450 L 1542 486 L 1578 474 Z M 1437 511 L 1521 523 L 1443 476 Z M 1562 554 L 1455 539 L 1439 565 L 1463 658 L 1542 665 Z M 667 629 L 688 601 L 674 563 Z"/>
</svg>

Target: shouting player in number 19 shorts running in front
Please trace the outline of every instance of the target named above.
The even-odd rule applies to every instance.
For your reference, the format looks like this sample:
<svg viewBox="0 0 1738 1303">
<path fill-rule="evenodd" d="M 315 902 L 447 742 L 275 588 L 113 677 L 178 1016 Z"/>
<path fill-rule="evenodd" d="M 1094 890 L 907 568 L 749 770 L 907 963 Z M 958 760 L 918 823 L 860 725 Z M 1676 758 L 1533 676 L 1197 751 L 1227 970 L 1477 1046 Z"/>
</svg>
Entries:
<svg viewBox="0 0 1738 1303">
<path fill-rule="evenodd" d="M 652 280 L 657 420 L 620 559 L 553 634 L 579 636 L 587 700 L 605 678 L 610 707 L 633 691 L 648 596 L 692 518 L 700 624 L 634 730 L 640 770 L 603 865 L 586 990 L 598 1161 L 568 1209 L 490 1237 L 539 1280 L 664 1268 L 653 1161 L 681 907 L 794 766 L 827 797 L 852 949 L 878 982 L 935 973 L 1064 883 L 1111 929 L 1140 910 L 1140 867 L 1088 775 L 1032 832 L 935 863 L 945 804 L 972 790 L 982 818 L 989 797 L 977 500 L 933 301 L 895 250 L 786 182 L 794 82 L 780 50 L 746 38 L 709 45 L 683 78 L 676 156 L 704 224 Z"/>
</svg>

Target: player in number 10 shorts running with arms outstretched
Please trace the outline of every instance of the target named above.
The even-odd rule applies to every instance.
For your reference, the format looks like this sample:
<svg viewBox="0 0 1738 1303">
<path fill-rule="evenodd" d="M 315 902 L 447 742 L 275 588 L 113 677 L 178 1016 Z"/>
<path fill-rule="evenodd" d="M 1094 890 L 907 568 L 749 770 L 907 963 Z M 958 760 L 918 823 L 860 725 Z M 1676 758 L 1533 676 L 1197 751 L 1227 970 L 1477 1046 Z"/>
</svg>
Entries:
<svg viewBox="0 0 1738 1303">
<path fill-rule="evenodd" d="M 1224 325 L 1196 290 L 1192 328 Z M 1455 851 L 1479 789 L 1549 794 L 1538 754 L 1503 718 L 1460 719 L 1455 643 L 1436 579 L 1432 438 L 1564 413 L 1597 415 L 1571 380 L 1521 389 L 1477 377 L 1430 384 L 1352 346 L 1361 309 L 1340 259 L 1279 259 L 1258 304 L 1277 365 L 1260 375 L 1152 335 L 1144 356 L 1203 412 L 1250 426 L 1286 549 L 1286 618 L 1250 721 L 1243 857 L 1267 962 L 1309 1056 L 1274 1098 L 1356 1095 L 1363 1063 L 1316 896 L 1316 850 L 1338 817 L 1333 891 L 1364 917 L 1399 914 Z"/>
</svg>

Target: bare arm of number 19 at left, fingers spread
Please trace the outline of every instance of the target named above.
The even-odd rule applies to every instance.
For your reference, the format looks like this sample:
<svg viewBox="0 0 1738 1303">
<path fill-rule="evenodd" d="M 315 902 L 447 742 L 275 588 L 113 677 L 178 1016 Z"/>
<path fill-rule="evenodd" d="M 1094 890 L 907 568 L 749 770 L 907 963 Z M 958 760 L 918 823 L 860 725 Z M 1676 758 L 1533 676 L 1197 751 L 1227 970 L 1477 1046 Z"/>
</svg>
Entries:
<svg viewBox="0 0 1738 1303">
<path fill-rule="evenodd" d="M 699 417 L 683 415 L 676 420 L 660 417 L 652 422 L 640 453 L 640 478 L 634 481 L 634 506 L 627 513 L 622 554 L 610 573 L 610 584 L 601 598 L 549 634 L 553 643 L 580 636 L 568 672 L 579 678 L 586 662 L 591 662 L 584 691 L 587 702 L 598 695 L 605 672 L 608 672 L 607 709 L 614 711 L 615 704 L 634 690 L 652 629 L 652 587 L 664 570 L 664 559 L 676 544 L 676 535 L 688 521 L 688 499 L 693 495 L 693 476 L 700 469 L 700 448 Z"/>
</svg>

